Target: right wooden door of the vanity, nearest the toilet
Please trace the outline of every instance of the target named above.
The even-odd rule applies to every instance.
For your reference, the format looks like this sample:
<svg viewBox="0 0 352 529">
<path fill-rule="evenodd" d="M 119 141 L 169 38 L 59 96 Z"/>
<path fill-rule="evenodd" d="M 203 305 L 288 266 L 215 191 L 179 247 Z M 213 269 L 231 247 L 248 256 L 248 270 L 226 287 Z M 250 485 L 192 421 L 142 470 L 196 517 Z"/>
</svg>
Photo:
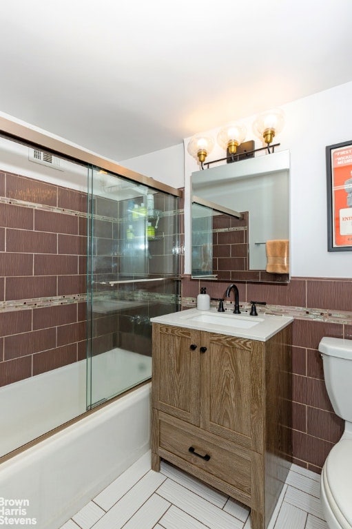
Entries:
<svg viewBox="0 0 352 529">
<path fill-rule="evenodd" d="M 201 333 L 200 347 L 200 426 L 263 453 L 262 342 Z"/>
</svg>

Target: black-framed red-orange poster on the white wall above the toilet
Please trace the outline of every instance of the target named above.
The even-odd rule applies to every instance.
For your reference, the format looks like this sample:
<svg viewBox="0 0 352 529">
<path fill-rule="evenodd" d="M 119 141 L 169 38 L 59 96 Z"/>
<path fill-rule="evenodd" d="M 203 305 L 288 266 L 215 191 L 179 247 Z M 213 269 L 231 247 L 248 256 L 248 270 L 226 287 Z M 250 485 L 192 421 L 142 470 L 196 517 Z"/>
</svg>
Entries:
<svg viewBox="0 0 352 529">
<path fill-rule="evenodd" d="M 352 251 L 352 141 L 328 145 L 328 251 Z"/>
</svg>

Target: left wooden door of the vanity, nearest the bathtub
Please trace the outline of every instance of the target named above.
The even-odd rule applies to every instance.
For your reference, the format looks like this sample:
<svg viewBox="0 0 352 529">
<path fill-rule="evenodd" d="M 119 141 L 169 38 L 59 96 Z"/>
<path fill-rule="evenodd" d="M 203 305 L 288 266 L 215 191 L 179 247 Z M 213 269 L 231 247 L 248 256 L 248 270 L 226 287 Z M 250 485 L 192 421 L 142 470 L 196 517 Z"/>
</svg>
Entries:
<svg viewBox="0 0 352 529">
<path fill-rule="evenodd" d="M 153 406 L 199 424 L 199 335 L 153 324 Z"/>
</svg>

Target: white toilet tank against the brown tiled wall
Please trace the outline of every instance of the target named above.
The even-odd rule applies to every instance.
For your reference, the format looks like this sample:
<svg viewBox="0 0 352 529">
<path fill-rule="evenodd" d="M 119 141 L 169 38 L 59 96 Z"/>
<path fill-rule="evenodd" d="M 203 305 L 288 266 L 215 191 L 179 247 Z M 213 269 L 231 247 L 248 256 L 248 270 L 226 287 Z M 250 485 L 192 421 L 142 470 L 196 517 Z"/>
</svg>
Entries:
<svg viewBox="0 0 352 529">
<path fill-rule="evenodd" d="M 320 340 L 325 386 L 333 409 L 339 417 L 352 422 L 352 340 Z"/>
</svg>

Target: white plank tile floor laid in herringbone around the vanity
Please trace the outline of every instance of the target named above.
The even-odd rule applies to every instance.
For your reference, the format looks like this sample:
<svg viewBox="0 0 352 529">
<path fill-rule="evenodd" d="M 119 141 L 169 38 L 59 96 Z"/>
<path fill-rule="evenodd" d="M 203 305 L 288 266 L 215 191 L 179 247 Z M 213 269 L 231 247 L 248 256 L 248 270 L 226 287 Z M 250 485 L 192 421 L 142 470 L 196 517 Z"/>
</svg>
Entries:
<svg viewBox="0 0 352 529">
<path fill-rule="evenodd" d="M 293 465 L 268 529 L 328 529 L 319 501 L 320 476 Z M 147 453 L 61 529 L 249 529 L 249 510 Z"/>
</svg>

